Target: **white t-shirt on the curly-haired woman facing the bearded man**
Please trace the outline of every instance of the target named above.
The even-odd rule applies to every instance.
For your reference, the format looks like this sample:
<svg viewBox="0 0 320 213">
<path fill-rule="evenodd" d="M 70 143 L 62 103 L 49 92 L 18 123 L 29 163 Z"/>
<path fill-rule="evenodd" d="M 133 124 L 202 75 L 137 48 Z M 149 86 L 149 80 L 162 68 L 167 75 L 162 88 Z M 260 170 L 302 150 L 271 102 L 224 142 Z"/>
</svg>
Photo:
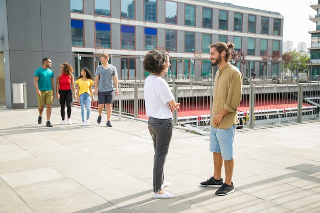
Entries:
<svg viewBox="0 0 320 213">
<path fill-rule="evenodd" d="M 146 113 L 155 119 L 171 119 L 172 113 L 169 101 L 174 96 L 165 79 L 150 75 L 145 81 L 144 98 Z"/>
</svg>

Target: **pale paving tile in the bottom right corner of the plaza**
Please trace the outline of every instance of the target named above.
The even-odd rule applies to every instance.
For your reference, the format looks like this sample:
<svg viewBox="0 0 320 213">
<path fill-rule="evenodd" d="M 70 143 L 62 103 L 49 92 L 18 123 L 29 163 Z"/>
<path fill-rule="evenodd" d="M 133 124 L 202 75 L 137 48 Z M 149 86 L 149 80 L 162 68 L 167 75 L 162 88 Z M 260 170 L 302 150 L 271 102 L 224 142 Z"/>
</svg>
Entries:
<svg viewBox="0 0 320 213">
<path fill-rule="evenodd" d="M 288 208 L 294 212 L 318 213 L 320 194 L 303 191 L 272 200 L 272 203 Z"/>
</svg>

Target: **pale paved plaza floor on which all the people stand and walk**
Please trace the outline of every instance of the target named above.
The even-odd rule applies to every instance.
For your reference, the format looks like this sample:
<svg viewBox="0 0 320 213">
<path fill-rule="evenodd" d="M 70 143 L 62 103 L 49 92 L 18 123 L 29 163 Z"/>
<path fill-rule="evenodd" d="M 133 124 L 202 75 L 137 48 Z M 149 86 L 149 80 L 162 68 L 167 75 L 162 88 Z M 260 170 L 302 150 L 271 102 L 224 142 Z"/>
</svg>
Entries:
<svg viewBox="0 0 320 213">
<path fill-rule="evenodd" d="M 213 175 L 209 136 L 175 128 L 165 164 L 174 199 L 153 199 L 153 144 L 147 123 L 106 115 L 82 127 L 53 108 L 37 124 L 37 109 L 0 107 L 1 213 L 319 212 L 320 122 L 237 130 L 236 191 L 216 196 L 200 182 Z M 224 174 L 222 176 L 224 178 Z"/>
</svg>

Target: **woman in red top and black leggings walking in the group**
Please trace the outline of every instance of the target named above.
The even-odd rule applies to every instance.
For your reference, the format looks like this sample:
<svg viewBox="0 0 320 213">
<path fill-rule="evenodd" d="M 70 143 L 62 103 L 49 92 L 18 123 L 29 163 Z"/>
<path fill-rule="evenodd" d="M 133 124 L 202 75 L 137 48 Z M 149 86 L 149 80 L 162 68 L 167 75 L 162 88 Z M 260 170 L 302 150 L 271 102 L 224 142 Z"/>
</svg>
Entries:
<svg viewBox="0 0 320 213">
<path fill-rule="evenodd" d="M 67 62 L 60 64 L 60 74 L 57 76 L 57 98 L 60 101 L 60 106 L 61 106 L 61 117 L 62 117 L 62 122 L 61 125 L 64 125 L 64 108 L 65 108 L 65 103 L 66 103 L 66 113 L 67 113 L 67 123 L 72 124 L 70 116 L 71 116 L 71 107 L 72 107 L 72 92 L 71 92 L 71 87 L 73 90 L 73 98 L 77 99 L 76 96 L 76 87 L 75 87 L 75 82 L 74 82 L 74 77 L 72 75 L 73 73 L 73 68 L 70 64 Z M 70 86 L 71 85 L 71 86 Z"/>
</svg>

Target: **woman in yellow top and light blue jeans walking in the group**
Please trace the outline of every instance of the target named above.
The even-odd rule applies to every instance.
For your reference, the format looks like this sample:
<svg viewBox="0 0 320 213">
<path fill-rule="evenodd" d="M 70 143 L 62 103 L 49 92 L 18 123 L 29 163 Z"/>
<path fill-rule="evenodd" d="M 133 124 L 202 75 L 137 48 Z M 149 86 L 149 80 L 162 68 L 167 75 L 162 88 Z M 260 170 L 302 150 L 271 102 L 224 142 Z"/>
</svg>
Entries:
<svg viewBox="0 0 320 213">
<path fill-rule="evenodd" d="M 77 84 L 77 100 L 80 102 L 81 106 L 81 116 L 82 116 L 82 126 L 89 126 L 89 116 L 91 108 L 91 99 L 95 101 L 92 92 L 91 85 L 94 84 L 93 76 L 89 69 L 83 68 L 80 72 L 80 77 L 76 81 Z M 84 104 L 87 108 L 87 120 L 84 120 Z"/>
</svg>

